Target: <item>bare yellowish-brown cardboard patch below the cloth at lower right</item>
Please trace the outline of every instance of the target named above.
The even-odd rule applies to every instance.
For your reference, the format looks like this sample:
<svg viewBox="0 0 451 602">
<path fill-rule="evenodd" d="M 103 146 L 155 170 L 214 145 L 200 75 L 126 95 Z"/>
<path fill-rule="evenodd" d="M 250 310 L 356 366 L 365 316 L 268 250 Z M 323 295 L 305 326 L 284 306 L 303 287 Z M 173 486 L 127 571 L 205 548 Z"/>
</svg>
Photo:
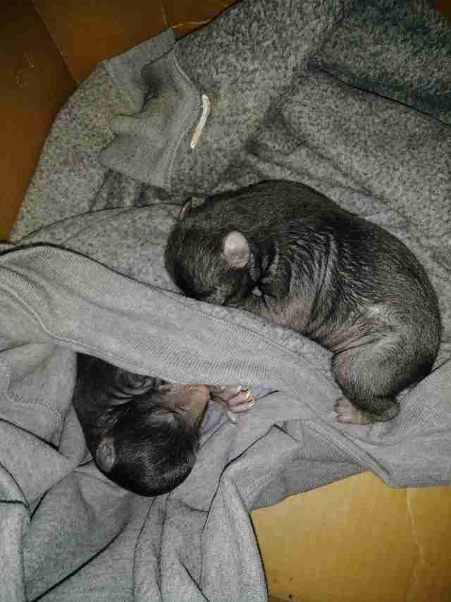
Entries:
<svg viewBox="0 0 451 602">
<path fill-rule="evenodd" d="M 269 590 L 283 599 L 451 601 L 450 487 L 395 490 L 365 473 L 252 521 Z"/>
</svg>

